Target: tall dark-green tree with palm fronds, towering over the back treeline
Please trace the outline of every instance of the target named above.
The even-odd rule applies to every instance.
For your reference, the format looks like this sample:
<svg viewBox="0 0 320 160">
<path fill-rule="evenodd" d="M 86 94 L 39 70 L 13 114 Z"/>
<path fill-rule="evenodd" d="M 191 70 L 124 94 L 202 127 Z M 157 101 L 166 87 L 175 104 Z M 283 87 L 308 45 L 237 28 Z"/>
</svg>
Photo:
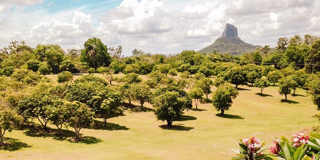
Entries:
<svg viewBox="0 0 320 160">
<path fill-rule="evenodd" d="M 93 68 L 100 66 L 109 67 L 110 59 L 107 46 L 99 38 L 89 38 L 84 43 L 84 49 L 81 50 L 80 55 L 81 62 L 86 62 Z"/>
</svg>

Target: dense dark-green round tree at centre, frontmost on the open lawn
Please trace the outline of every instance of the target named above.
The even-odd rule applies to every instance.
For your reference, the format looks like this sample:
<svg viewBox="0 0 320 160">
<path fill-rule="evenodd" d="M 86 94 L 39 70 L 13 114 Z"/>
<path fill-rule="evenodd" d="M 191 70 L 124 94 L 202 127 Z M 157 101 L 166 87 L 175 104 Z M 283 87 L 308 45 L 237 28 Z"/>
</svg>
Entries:
<svg viewBox="0 0 320 160">
<path fill-rule="evenodd" d="M 166 91 L 155 97 L 153 107 L 156 109 L 157 120 L 167 121 L 171 126 L 172 122 L 178 120 L 184 110 L 192 108 L 192 101 L 186 97 L 180 97 L 179 92 Z"/>
</svg>

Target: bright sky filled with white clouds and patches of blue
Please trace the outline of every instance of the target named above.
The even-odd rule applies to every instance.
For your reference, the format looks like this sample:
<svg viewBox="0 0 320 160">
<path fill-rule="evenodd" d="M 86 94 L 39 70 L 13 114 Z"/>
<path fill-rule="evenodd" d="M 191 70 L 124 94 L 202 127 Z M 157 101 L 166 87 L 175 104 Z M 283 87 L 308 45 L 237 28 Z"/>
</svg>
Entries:
<svg viewBox="0 0 320 160">
<path fill-rule="evenodd" d="M 125 56 L 179 53 L 212 44 L 226 23 L 245 42 L 274 47 L 279 37 L 320 36 L 319 8 L 319 0 L 0 0 L 0 47 L 81 49 L 98 37 Z"/>
</svg>

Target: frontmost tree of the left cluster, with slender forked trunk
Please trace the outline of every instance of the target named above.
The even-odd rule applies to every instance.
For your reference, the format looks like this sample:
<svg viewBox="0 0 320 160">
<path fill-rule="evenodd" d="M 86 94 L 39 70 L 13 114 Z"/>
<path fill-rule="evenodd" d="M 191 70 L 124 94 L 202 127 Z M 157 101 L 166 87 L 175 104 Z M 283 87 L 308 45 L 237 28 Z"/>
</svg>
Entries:
<svg viewBox="0 0 320 160">
<path fill-rule="evenodd" d="M 67 116 L 66 127 L 72 127 L 76 132 L 76 139 L 80 140 L 80 130 L 92 124 L 94 112 L 86 104 L 79 101 L 65 101 L 63 104 Z"/>
</svg>

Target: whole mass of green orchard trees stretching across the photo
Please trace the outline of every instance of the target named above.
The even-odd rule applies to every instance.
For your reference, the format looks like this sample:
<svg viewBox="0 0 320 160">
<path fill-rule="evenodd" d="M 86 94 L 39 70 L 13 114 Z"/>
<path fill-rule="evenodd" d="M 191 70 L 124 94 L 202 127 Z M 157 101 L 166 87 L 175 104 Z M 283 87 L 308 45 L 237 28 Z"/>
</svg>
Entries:
<svg viewBox="0 0 320 160">
<path fill-rule="evenodd" d="M 0 54 L 0 145 L 6 132 L 32 120 L 44 132 L 48 124 L 57 127 L 57 134 L 72 128 L 80 140 L 81 129 L 95 118 L 106 126 L 108 118 L 122 116 L 132 101 L 142 109 L 152 104 L 155 118 L 168 126 L 192 109 L 193 102 L 198 109 L 199 102 L 211 99 L 223 115 L 239 95 L 239 85 L 257 87 L 260 94 L 278 86 L 285 100 L 301 87 L 320 109 L 320 40 L 310 35 L 279 38 L 275 49 L 265 46 L 241 56 L 186 50 L 165 57 L 134 49 L 131 57 L 123 57 L 121 46 L 108 48 L 95 37 L 81 50 L 64 52 L 56 44 L 31 48 L 14 41 Z M 115 76 L 121 73 L 121 78 Z M 57 82 L 47 74 L 57 74 Z M 74 80 L 74 74 L 81 76 Z"/>
</svg>

